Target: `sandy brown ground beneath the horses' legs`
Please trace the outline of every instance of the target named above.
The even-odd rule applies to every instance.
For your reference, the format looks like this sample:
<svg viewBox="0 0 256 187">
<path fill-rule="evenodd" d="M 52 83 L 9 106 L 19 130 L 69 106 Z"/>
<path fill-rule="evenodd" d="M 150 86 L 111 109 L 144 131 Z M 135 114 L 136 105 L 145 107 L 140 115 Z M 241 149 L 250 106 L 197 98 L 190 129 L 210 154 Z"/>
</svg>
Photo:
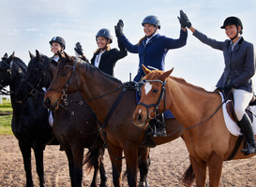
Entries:
<svg viewBox="0 0 256 187">
<path fill-rule="evenodd" d="M 151 149 L 150 157 L 148 181 L 151 187 L 182 186 L 179 179 L 188 167 L 189 160 L 188 151 L 181 138 Z M 108 152 L 104 156 L 104 163 L 108 177 L 107 184 L 113 186 L 112 167 Z M 125 161 L 123 161 L 123 165 L 123 171 L 125 171 Z M 70 186 L 67 157 L 64 151 L 59 151 L 58 146 L 46 147 L 44 169 L 46 186 Z M 34 183 L 39 186 L 34 156 L 32 170 Z M 254 187 L 256 186 L 255 174 L 256 157 L 225 162 L 220 186 Z M 90 185 L 92 175 L 93 172 L 89 174 L 83 172 L 83 186 Z M 0 186 L 25 186 L 23 157 L 18 140 L 14 136 L 0 137 Z M 126 177 L 122 180 L 122 186 L 128 186 Z M 208 181 L 206 186 L 208 186 Z"/>
</svg>

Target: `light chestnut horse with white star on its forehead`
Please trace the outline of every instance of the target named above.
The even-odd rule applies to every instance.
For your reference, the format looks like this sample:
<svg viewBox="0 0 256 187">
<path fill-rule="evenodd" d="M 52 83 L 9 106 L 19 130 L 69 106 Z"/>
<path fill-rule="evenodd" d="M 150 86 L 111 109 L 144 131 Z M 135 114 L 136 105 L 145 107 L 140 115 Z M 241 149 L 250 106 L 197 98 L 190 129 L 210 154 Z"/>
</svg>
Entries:
<svg viewBox="0 0 256 187">
<path fill-rule="evenodd" d="M 146 83 L 142 88 L 140 102 L 149 106 L 159 103 L 159 112 L 169 108 L 185 128 L 183 139 L 192 168 L 188 168 L 184 176 L 184 184 L 187 186 L 192 184 L 194 172 L 196 186 L 204 186 L 208 166 L 209 186 L 218 186 L 223 162 L 229 160 L 238 139 L 225 125 L 220 94 L 206 92 L 184 79 L 170 76 L 173 69 L 166 72 L 150 71 L 143 66 L 143 71 L 146 74 L 144 77 Z M 148 109 L 155 108 L 146 109 L 143 105 L 138 105 L 135 109 L 132 118 L 137 126 L 143 128 L 146 126 L 149 121 Z M 255 155 L 245 156 L 241 152 L 243 145 L 243 143 L 240 145 L 233 159 L 244 159 Z"/>
</svg>

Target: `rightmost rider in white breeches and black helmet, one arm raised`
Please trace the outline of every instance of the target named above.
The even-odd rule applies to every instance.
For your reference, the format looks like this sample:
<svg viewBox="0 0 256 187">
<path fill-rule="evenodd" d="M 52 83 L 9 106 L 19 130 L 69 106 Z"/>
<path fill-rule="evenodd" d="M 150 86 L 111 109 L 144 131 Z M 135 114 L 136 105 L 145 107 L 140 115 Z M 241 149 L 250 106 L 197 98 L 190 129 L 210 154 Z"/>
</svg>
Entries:
<svg viewBox="0 0 256 187">
<path fill-rule="evenodd" d="M 255 153 L 256 142 L 251 122 L 245 112 L 253 96 L 251 78 L 255 73 L 255 55 L 253 45 L 241 36 L 243 33 L 242 22 L 236 17 L 228 17 L 220 28 L 225 29 L 226 35 L 230 39 L 220 42 L 208 38 L 193 28 L 183 11 L 181 20 L 193 33 L 193 36 L 196 36 L 204 44 L 223 51 L 225 68 L 221 78 L 218 80 L 217 88 L 218 90 L 231 91 L 233 93 L 234 112 L 241 132 L 248 142 L 248 148 L 242 150 L 242 152 L 245 155 Z"/>
</svg>

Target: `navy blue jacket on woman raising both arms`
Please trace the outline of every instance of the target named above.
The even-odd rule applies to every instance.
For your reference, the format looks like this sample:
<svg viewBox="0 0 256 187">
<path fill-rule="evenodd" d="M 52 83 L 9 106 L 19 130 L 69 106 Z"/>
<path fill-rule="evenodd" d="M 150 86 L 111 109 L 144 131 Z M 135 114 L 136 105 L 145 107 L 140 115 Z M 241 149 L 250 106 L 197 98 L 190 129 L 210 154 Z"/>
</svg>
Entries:
<svg viewBox="0 0 256 187">
<path fill-rule="evenodd" d="M 145 44 L 146 38 L 143 39 L 140 46 L 138 46 L 138 44 L 131 44 L 126 36 L 119 36 L 118 41 L 120 41 L 129 52 L 139 53 L 140 64 L 138 73 L 134 78 L 134 81 L 139 81 L 144 76 L 142 65 L 145 65 L 150 70 L 164 70 L 164 60 L 167 51 L 185 46 L 187 37 L 188 32 L 181 30 L 178 39 L 157 34 L 156 36 L 153 36 L 147 44 Z"/>
</svg>

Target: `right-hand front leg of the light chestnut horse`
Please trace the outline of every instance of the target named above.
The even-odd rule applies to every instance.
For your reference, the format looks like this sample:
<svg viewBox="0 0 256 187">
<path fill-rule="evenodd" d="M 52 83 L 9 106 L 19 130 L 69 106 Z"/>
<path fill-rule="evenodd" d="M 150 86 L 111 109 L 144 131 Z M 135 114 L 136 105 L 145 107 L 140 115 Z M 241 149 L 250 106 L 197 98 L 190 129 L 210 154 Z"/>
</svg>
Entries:
<svg viewBox="0 0 256 187">
<path fill-rule="evenodd" d="M 208 159 L 209 167 L 209 183 L 210 187 L 215 187 L 219 185 L 221 178 L 223 159 L 215 151 L 212 152 L 211 156 Z"/>
</svg>

